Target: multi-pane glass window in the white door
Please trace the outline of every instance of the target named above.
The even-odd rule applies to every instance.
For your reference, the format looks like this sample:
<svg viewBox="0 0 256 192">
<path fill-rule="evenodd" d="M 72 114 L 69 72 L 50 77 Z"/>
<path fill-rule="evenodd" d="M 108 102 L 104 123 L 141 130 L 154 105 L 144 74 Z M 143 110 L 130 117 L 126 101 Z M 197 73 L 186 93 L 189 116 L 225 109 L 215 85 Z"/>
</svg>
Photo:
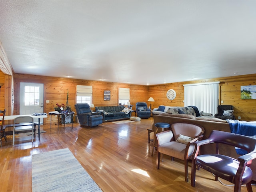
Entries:
<svg viewBox="0 0 256 192">
<path fill-rule="evenodd" d="M 39 86 L 25 86 L 25 106 L 38 106 L 39 93 Z"/>
</svg>

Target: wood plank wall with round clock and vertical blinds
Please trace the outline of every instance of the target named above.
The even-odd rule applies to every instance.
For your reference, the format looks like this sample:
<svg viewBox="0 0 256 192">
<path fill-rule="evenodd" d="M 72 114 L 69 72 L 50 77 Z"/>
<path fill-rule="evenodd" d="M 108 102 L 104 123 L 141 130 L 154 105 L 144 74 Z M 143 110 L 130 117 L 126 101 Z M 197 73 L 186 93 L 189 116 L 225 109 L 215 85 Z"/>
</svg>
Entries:
<svg viewBox="0 0 256 192">
<path fill-rule="evenodd" d="M 166 106 L 184 106 L 183 84 L 216 81 L 221 82 L 220 101 L 222 100 L 223 104 L 234 106 L 234 115 L 236 116 L 236 119 L 238 119 L 238 116 L 241 116 L 241 120 L 256 121 L 256 100 L 242 100 L 240 97 L 241 86 L 256 85 L 256 74 L 149 86 L 149 96 L 153 97 L 155 100 L 155 102 L 152 102 L 152 108 L 156 108 L 162 104 Z M 176 91 L 176 98 L 174 100 L 168 100 L 166 97 L 166 92 L 169 89 L 174 89 Z"/>
</svg>

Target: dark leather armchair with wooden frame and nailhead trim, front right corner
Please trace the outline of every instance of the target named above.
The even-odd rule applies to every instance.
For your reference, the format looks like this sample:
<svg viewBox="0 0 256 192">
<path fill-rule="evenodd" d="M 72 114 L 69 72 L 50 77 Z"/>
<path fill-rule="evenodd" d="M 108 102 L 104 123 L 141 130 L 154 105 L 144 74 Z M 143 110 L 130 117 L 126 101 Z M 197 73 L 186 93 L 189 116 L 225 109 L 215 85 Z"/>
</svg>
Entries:
<svg viewBox="0 0 256 192">
<path fill-rule="evenodd" d="M 195 186 L 196 166 L 203 168 L 218 177 L 234 183 L 234 192 L 241 191 L 241 185 L 246 184 L 248 192 L 252 192 L 252 170 L 250 164 L 256 158 L 256 139 L 240 134 L 213 130 L 206 140 L 193 143 L 196 147 L 192 155 L 191 186 Z M 216 154 L 199 155 L 200 146 L 216 145 Z M 219 144 L 227 144 L 246 150 L 248 153 L 234 159 L 219 154 Z"/>
</svg>

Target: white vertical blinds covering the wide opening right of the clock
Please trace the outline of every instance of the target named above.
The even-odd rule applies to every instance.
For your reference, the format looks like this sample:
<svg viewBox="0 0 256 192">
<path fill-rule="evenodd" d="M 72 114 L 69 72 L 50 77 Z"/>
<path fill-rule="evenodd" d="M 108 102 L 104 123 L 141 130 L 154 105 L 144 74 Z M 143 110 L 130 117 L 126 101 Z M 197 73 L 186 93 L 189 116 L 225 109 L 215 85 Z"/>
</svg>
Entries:
<svg viewBox="0 0 256 192">
<path fill-rule="evenodd" d="M 215 115 L 219 104 L 220 82 L 185 84 L 184 106 L 196 106 L 203 111 Z"/>
</svg>

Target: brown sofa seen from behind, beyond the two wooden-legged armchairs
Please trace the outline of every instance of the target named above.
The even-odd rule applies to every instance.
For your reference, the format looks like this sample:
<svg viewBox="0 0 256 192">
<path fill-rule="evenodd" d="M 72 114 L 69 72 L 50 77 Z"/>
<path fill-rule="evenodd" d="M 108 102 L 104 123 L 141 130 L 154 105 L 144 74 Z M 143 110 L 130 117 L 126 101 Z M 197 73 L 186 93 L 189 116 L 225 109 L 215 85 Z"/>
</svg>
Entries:
<svg viewBox="0 0 256 192">
<path fill-rule="evenodd" d="M 169 123 L 170 125 L 176 122 L 189 122 L 193 124 L 198 124 L 204 127 L 204 137 L 202 140 L 208 138 L 212 130 L 220 130 L 225 132 L 231 132 L 230 126 L 226 120 L 210 117 L 195 117 L 193 115 L 187 114 L 169 114 L 163 113 L 159 115 L 154 115 L 154 123 L 152 124 L 152 130 L 155 130 L 154 124 L 157 122 Z M 206 145 L 202 146 L 200 149 L 201 154 L 215 153 L 215 146 Z M 231 156 L 237 158 L 236 150 L 232 146 L 220 145 L 220 154 Z M 252 171 L 254 172 L 253 180 L 256 181 L 256 160 L 252 162 Z"/>
</svg>

